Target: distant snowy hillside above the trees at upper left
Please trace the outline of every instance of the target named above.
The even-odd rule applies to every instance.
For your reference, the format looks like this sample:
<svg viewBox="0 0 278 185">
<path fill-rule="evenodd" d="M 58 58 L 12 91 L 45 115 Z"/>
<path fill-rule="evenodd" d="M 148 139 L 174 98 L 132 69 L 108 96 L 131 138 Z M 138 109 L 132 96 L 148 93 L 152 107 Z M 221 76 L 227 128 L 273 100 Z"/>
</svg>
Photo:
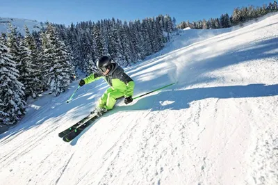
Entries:
<svg viewBox="0 0 278 185">
<path fill-rule="evenodd" d="M 26 25 L 31 32 L 40 31 L 42 27 L 41 24 L 35 20 L 0 17 L 0 33 L 6 33 L 10 23 L 15 26 L 17 31 L 22 33 L 22 35 L 25 34 L 24 25 Z"/>
</svg>

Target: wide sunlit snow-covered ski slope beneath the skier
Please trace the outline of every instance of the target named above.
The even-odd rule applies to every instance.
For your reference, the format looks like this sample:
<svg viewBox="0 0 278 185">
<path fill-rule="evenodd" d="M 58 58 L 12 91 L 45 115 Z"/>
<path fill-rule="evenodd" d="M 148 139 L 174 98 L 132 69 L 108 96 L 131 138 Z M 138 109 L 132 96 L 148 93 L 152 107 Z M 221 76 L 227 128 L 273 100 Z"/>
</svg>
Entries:
<svg viewBox="0 0 278 185">
<path fill-rule="evenodd" d="M 70 104 L 77 82 L 31 102 L 0 136 L 1 184 L 278 184 L 277 20 L 167 51 L 181 33 L 126 69 L 136 95 L 177 84 L 120 102 L 72 143 L 58 132 L 92 110 L 106 83 L 83 86 Z"/>
</svg>

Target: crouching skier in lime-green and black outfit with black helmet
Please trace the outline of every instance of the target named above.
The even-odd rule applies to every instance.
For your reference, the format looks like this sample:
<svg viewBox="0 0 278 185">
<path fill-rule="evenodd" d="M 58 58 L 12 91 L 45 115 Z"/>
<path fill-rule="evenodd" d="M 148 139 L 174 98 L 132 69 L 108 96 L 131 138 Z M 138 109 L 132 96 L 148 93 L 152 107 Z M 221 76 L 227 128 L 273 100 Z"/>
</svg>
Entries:
<svg viewBox="0 0 278 185">
<path fill-rule="evenodd" d="M 104 78 L 109 86 L 111 86 L 99 99 L 98 106 L 95 109 L 97 113 L 102 114 L 111 110 L 117 99 L 121 97 L 124 97 L 125 104 L 133 101 L 134 81 L 124 72 L 120 65 L 114 63 L 108 56 L 101 56 L 99 61 L 97 61 L 97 68 L 99 70 L 98 72 L 90 74 L 89 77 L 79 81 L 79 86 L 83 86 Z"/>
</svg>

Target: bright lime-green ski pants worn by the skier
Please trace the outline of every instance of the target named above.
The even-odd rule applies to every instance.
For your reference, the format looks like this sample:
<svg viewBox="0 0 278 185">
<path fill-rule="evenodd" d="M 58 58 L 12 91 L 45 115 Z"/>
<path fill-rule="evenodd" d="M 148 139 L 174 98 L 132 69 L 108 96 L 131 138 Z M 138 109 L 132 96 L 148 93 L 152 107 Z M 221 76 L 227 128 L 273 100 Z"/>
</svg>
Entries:
<svg viewBox="0 0 278 185">
<path fill-rule="evenodd" d="M 115 103 L 117 102 L 117 98 L 123 97 L 124 93 L 113 90 L 112 88 L 108 88 L 104 95 L 99 99 L 99 107 L 106 108 L 107 110 L 111 110 Z"/>
</svg>

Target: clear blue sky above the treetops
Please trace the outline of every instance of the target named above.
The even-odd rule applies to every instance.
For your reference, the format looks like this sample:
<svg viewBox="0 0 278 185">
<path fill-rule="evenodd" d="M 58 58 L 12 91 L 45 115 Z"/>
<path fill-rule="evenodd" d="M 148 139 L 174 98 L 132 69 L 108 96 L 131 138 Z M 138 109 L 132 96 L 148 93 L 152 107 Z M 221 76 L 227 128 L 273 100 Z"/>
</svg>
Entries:
<svg viewBox="0 0 278 185">
<path fill-rule="evenodd" d="M 35 19 L 69 25 L 115 17 L 121 20 L 170 15 L 177 23 L 231 15 L 234 8 L 262 6 L 272 0 L 0 0 L 0 17 Z"/>
</svg>

